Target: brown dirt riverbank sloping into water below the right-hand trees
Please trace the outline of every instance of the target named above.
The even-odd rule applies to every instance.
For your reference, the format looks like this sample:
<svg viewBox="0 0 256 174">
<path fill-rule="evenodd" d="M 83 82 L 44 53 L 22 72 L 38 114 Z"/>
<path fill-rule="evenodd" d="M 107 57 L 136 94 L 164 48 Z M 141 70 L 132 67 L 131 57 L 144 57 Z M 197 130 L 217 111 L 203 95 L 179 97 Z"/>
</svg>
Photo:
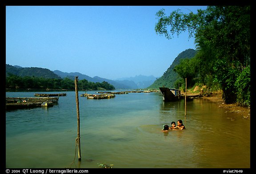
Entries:
<svg viewBox="0 0 256 174">
<path fill-rule="evenodd" d="M 202 98 L 218 104 L 220 108 L 224 108 L 226 110 L 225 112 L 237 113 L 239 116 L 243 117 L 244 119 L 250 120 L 251 108 L 242 107 L 237 103 L 225 104 L 222 98 L 221 92 L 214 92 L 209 97 L 202 97 Z"/>
</svg>

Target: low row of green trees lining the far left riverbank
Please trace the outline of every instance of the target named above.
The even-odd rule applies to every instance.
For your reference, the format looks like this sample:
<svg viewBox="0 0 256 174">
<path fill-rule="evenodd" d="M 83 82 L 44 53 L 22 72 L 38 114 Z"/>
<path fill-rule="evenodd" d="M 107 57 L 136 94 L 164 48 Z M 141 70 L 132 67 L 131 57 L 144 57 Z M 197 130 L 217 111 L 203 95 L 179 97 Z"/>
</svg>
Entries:
<svg viewBox="0 0 256 174">
<path fill-rule="evenodd" d="M 44 77 L 20 77 L 13 74 L 9 74 L 5 79 L 6 88 L 10 89 L 75 89 L 74 80 L 68 77 L 64 79 L 60 78 L 44 78 Z M 85 90 L 97 90 L 103 88 L 106 90 L 113 90 L 115 87 L 110 85 L 108 82 L 103 81 L 102 83 L 93 83 L 85 79 L 78 81 L 78 89 Z"/>
</svg>

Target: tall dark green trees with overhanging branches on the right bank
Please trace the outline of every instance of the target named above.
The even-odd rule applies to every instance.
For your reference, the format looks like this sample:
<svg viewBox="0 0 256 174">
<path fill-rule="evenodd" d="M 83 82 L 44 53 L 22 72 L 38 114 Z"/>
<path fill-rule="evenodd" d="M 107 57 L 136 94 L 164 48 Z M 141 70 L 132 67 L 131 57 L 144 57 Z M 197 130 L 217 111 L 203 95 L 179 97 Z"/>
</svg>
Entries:
<svg viewBox="0 0 256 174">
<path fill-rule="evenodd" d="M 188 31 L 189 37 L 195 37 L 198 75 L 202 82 L 218 82 L 226 103 L 245 96 L 241 93 L 248 91 L 250 81 L 245 81 L 244 86 L 235 84 L 250 66 L 250 6 L 208 6 L 206 10 L 199 9 L 197 14 L 176 10 L 169 16 L 162 9 L 156 16 L 157 34 L 171 39 L 175 33 Z M 249 73 L 243 74 L 250 79 Z M 237 89 L 238 86 L 244 89 Z M 248 98 L 239 100 L 246 103 L 244 100 Z"/>
</svg>

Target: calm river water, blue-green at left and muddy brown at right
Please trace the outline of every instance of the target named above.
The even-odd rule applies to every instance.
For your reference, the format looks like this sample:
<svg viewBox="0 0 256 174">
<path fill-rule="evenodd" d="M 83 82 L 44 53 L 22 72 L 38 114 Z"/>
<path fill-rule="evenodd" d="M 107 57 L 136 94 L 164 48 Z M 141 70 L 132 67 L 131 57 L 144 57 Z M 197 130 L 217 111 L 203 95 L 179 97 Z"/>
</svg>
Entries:
<svg viewBox="0 0 256 174">
<path fill-rule="evenodd" d="M 6 97 L 34 93 L 42 92 L 6 92 Z M 68 91 L 53 107 L 6 112 L 6 167 L 250 168 L 250 120 L 208 100 L 188 101 L 187 116 L 184 100 L 165 103 L 157 92 L 79 97 L 79 108 L 79 164 L 76 96 Z M 161 131 L 177 120 L 185 130 Z"/>
</svg>

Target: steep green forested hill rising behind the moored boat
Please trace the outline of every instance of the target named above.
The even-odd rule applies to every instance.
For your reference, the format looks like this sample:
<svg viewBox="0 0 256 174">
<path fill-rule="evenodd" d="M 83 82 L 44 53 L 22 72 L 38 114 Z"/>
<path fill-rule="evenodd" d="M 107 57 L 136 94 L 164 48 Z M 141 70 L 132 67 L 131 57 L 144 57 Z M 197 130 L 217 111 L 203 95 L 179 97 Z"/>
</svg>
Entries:
<svg viewBox="0 0 256 174">
<path fill-rule="evenodd" d="M 158 78 L 152 85 L 150 85 L 148 88 L 149 89 L 158 89 L 161 86 L 169 87 L 169 88 L 176 88 L 175 87 L 175 82 L 178 80 L 180 77 L 178 73 L 173 71 L 174 67 L 180 63 L 181 59 L 184 58 L 192 58 L 196 55 L 196 50 L 193 49 L 188 49 L 184 50 L 181 52 L 172 62 L 172 65 L 165 71 L 165 73 Z M 166 62 L 167 64 L 169 62 Z"/>
</svg>

